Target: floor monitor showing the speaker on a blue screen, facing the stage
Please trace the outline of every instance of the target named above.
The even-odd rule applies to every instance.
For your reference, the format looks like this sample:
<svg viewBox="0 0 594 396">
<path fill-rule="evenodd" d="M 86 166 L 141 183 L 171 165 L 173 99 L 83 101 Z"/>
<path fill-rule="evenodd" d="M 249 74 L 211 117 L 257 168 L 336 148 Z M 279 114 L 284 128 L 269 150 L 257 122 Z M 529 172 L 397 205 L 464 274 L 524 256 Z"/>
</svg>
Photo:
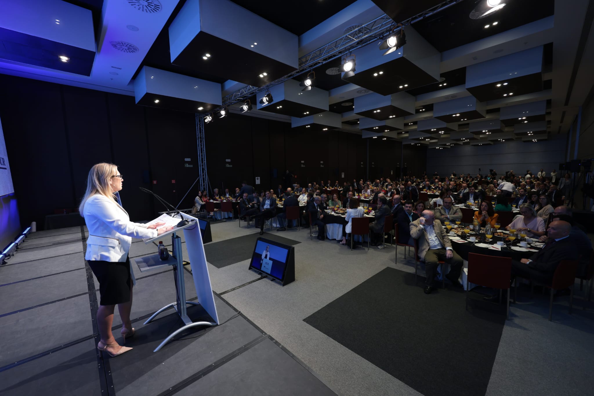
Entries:
<svg viewBox="0 0 594 396">
<path fill-rule="evenodd" d="M 295 280 L 295 248 L 258 238 L 249 270 L 255 270 L 285 286 Z"/>
</svg>

